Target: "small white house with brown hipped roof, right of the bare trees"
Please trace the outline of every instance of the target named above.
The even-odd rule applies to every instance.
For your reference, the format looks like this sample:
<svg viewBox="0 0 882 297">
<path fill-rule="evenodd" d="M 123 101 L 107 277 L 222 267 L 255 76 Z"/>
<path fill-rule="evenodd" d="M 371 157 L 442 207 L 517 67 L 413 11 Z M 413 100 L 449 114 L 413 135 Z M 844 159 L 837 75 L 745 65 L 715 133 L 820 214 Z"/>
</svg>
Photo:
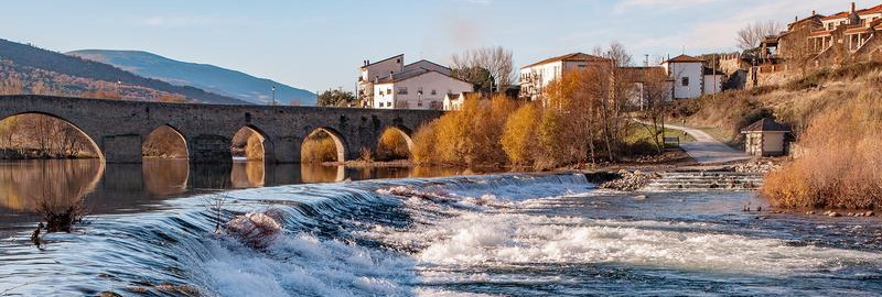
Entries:
<svg viewBox="0 0 882 297">
<path fill-rule="evenodd" d="M 703 59 L 679 55 L 663 62 L 662 67 L 674 79 L 674 99 L 691 99 L 721 91 L 722 73 L 707 73 Z"/>
</svg>

